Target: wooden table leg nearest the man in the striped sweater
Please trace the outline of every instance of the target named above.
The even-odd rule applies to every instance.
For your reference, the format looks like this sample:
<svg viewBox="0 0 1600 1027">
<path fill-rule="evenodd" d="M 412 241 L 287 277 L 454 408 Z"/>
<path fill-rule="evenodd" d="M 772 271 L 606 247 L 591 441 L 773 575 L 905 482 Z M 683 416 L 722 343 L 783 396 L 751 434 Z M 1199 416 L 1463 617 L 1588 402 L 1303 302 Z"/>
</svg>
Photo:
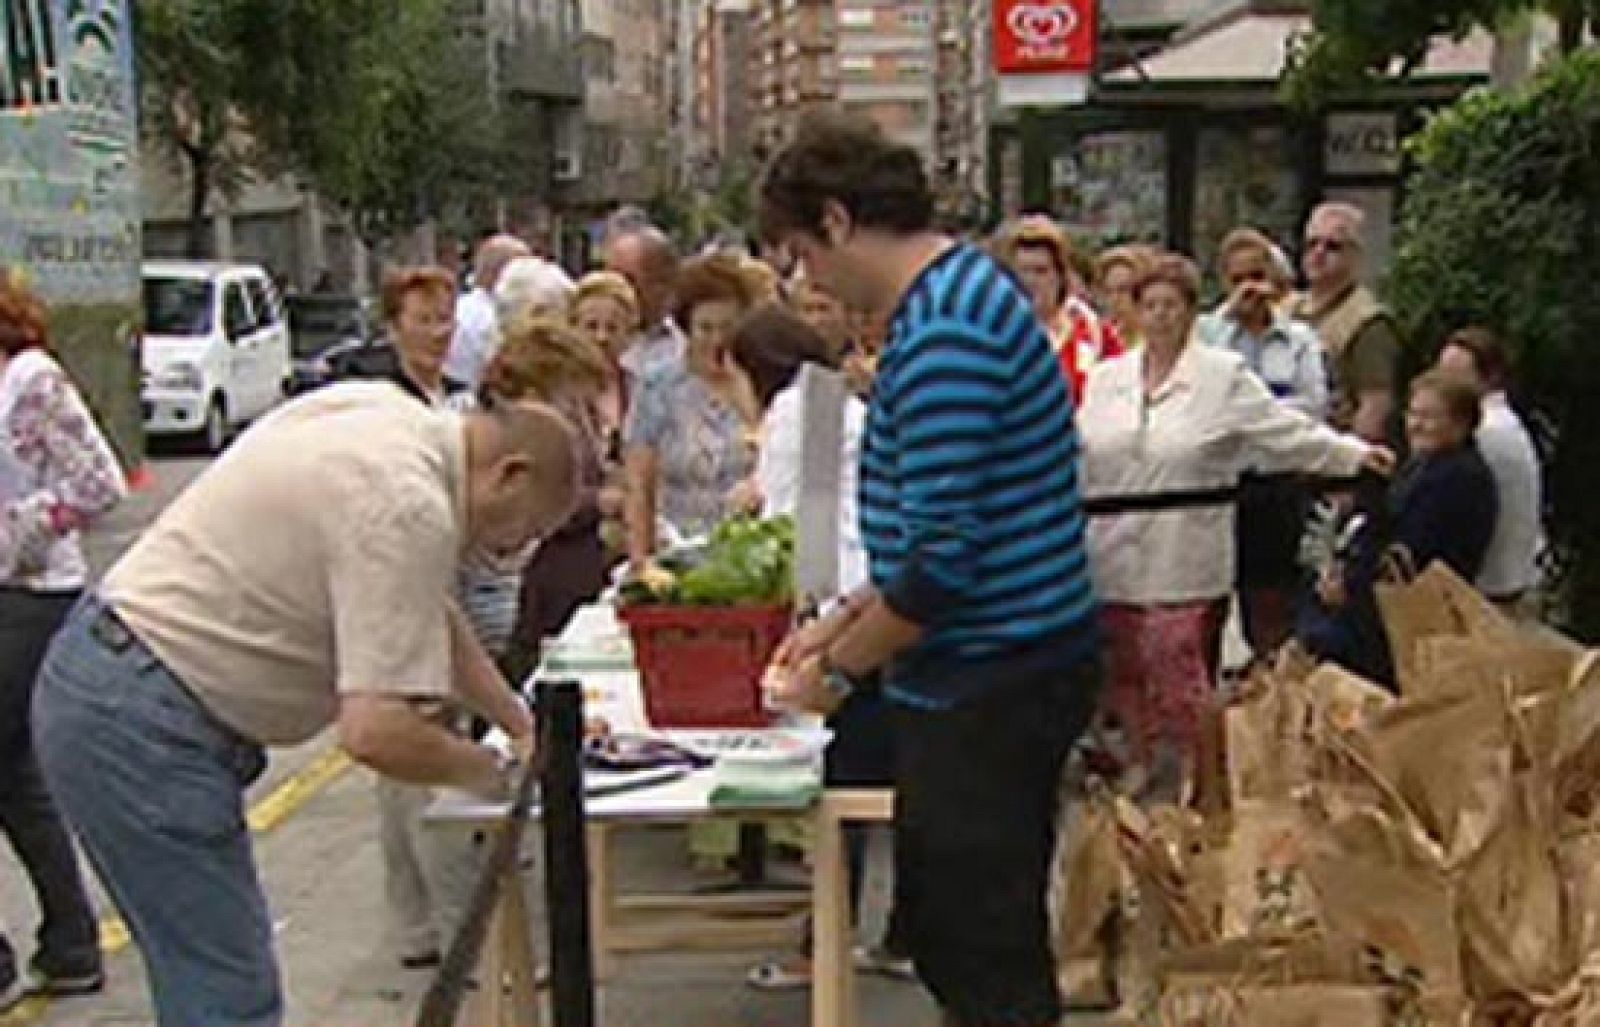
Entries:
<svg viewBox="0 0 1600 1027">
<path fill-rule="evenodd" d="M 850 867 L 843 821 L 824 795 L 811 867 L 811 1027 L 850 1027 L 856 974 L 850 960 Z"/>
</svg>

